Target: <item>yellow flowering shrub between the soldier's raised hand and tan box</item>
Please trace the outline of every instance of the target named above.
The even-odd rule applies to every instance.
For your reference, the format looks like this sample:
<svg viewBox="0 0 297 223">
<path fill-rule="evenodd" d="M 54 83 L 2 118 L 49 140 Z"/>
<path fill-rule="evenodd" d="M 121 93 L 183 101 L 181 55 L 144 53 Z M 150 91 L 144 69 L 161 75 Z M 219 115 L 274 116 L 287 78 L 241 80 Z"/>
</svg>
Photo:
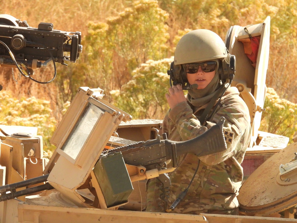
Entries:
<svg viewBox="0 0 297 223">
<path fill-rule="evenodd" d="M 165 94 L 170 86 L 167 70 L 172 61 L 173 57 L 141 64 L 133 70 L 132 80 L 110 92 L 113 104 L 133 119 L 163 119 L 169 109 Z"/>
</svg>

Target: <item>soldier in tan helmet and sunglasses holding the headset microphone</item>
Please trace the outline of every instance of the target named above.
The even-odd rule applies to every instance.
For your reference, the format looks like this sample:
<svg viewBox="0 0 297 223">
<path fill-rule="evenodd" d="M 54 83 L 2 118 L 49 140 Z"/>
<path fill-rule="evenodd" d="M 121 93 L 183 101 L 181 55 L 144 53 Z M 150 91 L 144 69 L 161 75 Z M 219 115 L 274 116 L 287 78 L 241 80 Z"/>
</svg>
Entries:
<svg viewBox="0 0 297 223">
<path fill-rule="evenodd" d="M 167 193 L 166 189 L 160 190 L 158 180 L 148 182 L 146 211 L 238 215 L 236 196 L 243 179 L 240 164 L 250 142 L 251 125 L 249 110 L 237 88 L 226 83 L 228 77 L 223 69 L 229 65 L 230 56 L 222 39 L 209 30 L 193 30 L 178 42 L 173 70 L 180 73 L 179 79 L 173 81 L 186 80 L 195 89 L 189 89 L 185 97 L 181 85 L 169 88 L 165 96 L 170 109 L 159 134 L 166 133 L 173 141 L 189 140 L 225 117 L 227 150 L 202 157 L 192 153 L 178 157 L 177 168 L 169 173 L 172 186 Z M 185 189 L 186 196 L 170 209 Z"/>
</svg>

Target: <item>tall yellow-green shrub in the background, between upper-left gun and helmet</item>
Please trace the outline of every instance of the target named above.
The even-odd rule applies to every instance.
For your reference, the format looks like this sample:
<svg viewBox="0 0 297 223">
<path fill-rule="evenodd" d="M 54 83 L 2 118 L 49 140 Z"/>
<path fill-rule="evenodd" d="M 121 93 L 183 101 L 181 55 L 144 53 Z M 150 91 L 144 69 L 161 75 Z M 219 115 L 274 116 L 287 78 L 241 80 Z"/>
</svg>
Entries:
<svg viewBox="0 0 297 223">
<path fill-rule="evenodd" d="M 85 84 L 109 92 L 131 79 L 131 72 L 149 59 L 167 58 L 168 13 L 156 0 L 132 1 L 129 7 L 106 19 L 88 23 L 85 37 Z"/>
</svg>

